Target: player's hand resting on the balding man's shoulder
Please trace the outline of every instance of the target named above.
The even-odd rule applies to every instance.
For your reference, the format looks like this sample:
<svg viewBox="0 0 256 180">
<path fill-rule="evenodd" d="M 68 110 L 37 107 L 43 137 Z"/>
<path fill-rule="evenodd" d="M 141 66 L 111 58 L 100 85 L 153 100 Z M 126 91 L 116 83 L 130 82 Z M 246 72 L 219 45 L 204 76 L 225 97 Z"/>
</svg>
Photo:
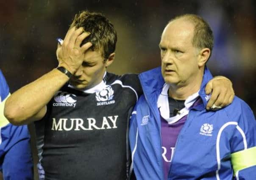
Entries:
<svg viewBox="0 0 256 180">
<path fill-rule="evenodd" d="M 207 83 L 205 91 L 206 94 L 211 94 L 207 110 L 217 110 L 231 104 L 235 95 L 232 82 L 224 76 L 214 77 Z"/>
</svg>

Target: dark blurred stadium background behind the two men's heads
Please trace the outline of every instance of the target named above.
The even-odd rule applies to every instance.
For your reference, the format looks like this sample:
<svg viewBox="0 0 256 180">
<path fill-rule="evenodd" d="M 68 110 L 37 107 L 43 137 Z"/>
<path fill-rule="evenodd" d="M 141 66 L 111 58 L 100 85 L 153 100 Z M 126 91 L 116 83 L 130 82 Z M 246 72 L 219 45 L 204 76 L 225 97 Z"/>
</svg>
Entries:
<svg viewBox="0 0 256 180">
<path fill-rule="evenodd" d="M 56 38 L 64 38 L 75 13 L 87 9 L 106 15 L 117 30 L 109 72 L 140 73 L 160 65 L 167 22 L 195 13 L 214 31 L 212 74 L 231 79 L 256 115 L 255 7 L 255 0 L 1 0 L 0 69 L 14 92 L 55 68 Z"/>
</svg>

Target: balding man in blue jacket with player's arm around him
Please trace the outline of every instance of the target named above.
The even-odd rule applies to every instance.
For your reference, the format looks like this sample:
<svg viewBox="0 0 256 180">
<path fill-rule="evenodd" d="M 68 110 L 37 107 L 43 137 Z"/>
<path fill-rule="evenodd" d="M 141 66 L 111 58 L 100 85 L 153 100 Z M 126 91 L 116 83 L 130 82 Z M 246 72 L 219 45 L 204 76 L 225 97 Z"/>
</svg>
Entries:
<svg viewBox="0 0 256 180">
<path fill-rule="evenodd" d="M 172 19 L 161 35 L 161 68 L 139 75 L 144 95 L 130 121 L 138 180 L 256 179 L 256 121 L 238 97 L 206 110 L 213 33 L 201 17 Z"/>
</svg>

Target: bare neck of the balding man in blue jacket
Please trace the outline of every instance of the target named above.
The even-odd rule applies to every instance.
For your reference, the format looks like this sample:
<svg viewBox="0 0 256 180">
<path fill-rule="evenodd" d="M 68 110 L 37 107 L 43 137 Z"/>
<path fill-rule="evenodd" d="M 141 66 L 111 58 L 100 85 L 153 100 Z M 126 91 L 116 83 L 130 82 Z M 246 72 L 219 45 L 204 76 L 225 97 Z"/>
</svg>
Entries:
<svg viewBox="0 0 256 180">
<path fill-rule="evenodd" d="M 170 84 L 168 95 L 173 99 L 186 100 L 192 94 L 199 91 L 203 80 L 203 74 L 200 73 L 198 77 L 187 80 L 184 83 Z"/>
</svg>

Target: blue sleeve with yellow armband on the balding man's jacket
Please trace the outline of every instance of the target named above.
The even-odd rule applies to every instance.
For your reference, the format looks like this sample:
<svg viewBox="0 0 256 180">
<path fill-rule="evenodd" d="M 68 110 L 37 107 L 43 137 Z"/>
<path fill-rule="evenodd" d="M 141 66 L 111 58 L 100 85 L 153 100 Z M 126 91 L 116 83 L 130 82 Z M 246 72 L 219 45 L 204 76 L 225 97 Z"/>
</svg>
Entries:
<svg viewBox="0 0 256 180">
<path fill-rule="evenodd" d="M 245 102 L 240 102 L 239 109 L 231 140 L 231 164 L 237 180 L 256 180 L 256 121 Z"/>
</svg>

